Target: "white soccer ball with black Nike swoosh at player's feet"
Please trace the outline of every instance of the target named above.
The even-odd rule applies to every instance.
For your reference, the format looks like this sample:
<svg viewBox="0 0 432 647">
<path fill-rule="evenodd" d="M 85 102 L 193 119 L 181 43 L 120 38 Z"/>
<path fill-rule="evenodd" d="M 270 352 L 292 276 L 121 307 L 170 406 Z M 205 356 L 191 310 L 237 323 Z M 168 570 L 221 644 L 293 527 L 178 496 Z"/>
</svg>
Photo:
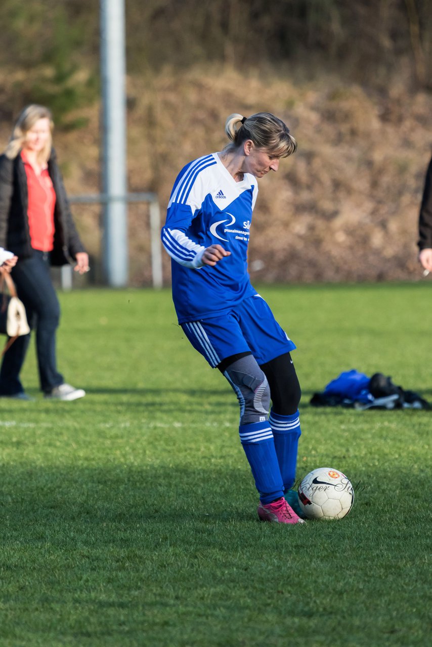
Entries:
<svg viewBox="0 0 432 647">
<path fill-rule="evenodd" d="M 306 474 L 298 495 L 302 512 L 310 519 L 342 519 L 354 503 L 350 480 L 332 467 L 319 467 Z"/>
</svg>

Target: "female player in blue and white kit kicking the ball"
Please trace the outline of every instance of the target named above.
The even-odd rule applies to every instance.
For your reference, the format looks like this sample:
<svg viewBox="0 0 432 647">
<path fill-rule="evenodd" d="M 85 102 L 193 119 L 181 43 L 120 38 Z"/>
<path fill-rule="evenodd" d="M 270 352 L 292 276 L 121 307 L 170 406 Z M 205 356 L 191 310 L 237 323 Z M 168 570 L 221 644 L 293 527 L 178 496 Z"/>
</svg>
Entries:
<svg viewBox="0 0 432 647">
<path fill-rule="evenodd" d="M 173 300 L 188 340 L 238 398 L 259 518 L 302 523 L 284 498 L 295 479 L 301 433 L 301 391 L 290 356 L 295 345 L 247 272 L 257 179 L 277 171 L 297 143 L 270 113 L 231 115 L 225 133 L 230 143 L 222 152 L 190 162 L 174 183 L 162 230 Z"/>
</svg>

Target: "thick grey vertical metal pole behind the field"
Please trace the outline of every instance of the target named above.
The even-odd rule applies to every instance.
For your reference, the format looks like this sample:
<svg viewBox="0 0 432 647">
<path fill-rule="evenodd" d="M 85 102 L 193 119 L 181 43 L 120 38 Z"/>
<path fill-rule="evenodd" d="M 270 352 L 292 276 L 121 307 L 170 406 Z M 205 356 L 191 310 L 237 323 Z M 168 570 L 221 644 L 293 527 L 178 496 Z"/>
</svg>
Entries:
<svg viewBox="0 0 432 647">
<path fill-rule="evenodd" d="M 100 0 L 102 76 L 102 192 L 104 267 L 108 285 L 128 283 L 127 206 L 115 196 L 126 195 L 126 55 L 124 0 Z"/>
</svg>

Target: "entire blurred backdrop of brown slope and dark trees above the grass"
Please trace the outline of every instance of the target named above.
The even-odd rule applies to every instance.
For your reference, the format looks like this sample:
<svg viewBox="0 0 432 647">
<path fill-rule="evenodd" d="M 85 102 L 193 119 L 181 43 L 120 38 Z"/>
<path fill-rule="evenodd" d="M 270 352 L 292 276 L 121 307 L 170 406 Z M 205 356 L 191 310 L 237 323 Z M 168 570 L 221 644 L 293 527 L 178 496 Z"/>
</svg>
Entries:
<svg viewBox="0 0 432 647">
<path fill-rule="evenodd" d="M 51 107 L 71 194 L 100 189 L 100 3 L 2 0 L 0 144 L 30 102 Z M 225 118 L 271 111 L 297 153 L 260 182 L 253 280 L 416 280 L 431 155 L 430 0 L 128 0 L 128 176 L 162 214 Z M 74 206 L 100 272 L 100 214 Z M 145 204 L 130 206 L 130 280 L 150 283 Z M 169 259 L 165 257 L 169 280 Z"/>
</svg>

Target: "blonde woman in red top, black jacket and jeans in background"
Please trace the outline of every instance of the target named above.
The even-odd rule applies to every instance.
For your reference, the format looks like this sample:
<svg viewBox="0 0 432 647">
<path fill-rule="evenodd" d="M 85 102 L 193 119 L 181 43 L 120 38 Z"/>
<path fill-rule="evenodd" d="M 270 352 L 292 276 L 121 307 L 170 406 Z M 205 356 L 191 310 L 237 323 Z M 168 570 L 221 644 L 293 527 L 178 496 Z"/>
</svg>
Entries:
<svg viewBox="0 0 432 647">
<path fill-rule="evenodd" d="M 76 400 L 83 389 L 67 384 L 56 366 L 56 329 L 60 305 L 50 265 L 75 261 L 83 274 L 89 258 L 73 223 L 62 175 L 52 149 L 52 115 L 41 105 L 28 105 L 0 156 L 0 246 L 18 257 L 12 269 L 18 297 L 36 331 L 40 387 L 46 398 Z M 19 337 L 3 357 L 0 397 L 30 399 L 19 374 L 30 334 Z"/>
</svg>

